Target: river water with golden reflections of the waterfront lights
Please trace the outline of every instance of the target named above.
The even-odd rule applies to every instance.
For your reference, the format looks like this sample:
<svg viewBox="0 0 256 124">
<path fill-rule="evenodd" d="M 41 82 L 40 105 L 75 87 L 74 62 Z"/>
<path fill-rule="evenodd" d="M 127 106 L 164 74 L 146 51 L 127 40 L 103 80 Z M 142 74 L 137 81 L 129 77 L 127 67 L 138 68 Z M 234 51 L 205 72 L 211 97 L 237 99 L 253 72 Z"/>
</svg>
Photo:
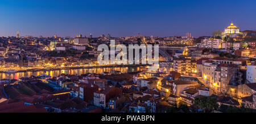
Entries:
<svg viewBox="0 0 256 124">
<path fill-rule="evenodd" d="M 59 76 L 61 73 L 68 75 L 82 75 L 85 73 L 102 73 L 110 72 L 112 70 L 120 71 L 122 73 L 141 71 L 145 67 L 113 67 L 113 68 L 85 68 L 85 69 L 68 69 L 68 70 L 55 70 L 55 71 L 38 71 L 38 72 L 18 72 L 18 73 L 0 73 L 0 79 L 19 79 L 20 77 L 39 76 L 41 74 L 47 74 L 52 77 Z"/>
</svg>

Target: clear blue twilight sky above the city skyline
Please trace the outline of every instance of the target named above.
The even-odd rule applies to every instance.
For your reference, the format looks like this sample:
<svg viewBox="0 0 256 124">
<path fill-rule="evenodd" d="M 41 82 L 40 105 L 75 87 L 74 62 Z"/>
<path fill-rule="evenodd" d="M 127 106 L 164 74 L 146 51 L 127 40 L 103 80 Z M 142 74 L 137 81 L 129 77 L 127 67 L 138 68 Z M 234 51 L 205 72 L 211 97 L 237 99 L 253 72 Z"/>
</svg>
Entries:
<svg viewBox="0 0 256 124">
<path fill-rule="evenodd" d="M 256 30 L 255 0 L 1 0 L 0 36 L 211 36 Z"/>
</svg>

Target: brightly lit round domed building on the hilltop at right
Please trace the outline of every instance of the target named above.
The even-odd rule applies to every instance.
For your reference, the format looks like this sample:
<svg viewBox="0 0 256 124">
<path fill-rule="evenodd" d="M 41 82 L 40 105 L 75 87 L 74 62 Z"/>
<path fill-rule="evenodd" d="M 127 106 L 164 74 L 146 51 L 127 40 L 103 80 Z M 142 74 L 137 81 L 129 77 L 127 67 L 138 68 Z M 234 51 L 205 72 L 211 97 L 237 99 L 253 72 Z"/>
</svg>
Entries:
<svg viewBox="0 0 256 124">
<path fill-rule="evenodd" d="M 233 23 L 231 23 L 230 26 L 225 27 L 225 31 L 222 32 L 222 38 L 225 38 L 226 36 L 229 36 L 229 38 L 236 38 L 240 35 L 242 35 L 240 28 L 235 26 Z"/>
</svg>

